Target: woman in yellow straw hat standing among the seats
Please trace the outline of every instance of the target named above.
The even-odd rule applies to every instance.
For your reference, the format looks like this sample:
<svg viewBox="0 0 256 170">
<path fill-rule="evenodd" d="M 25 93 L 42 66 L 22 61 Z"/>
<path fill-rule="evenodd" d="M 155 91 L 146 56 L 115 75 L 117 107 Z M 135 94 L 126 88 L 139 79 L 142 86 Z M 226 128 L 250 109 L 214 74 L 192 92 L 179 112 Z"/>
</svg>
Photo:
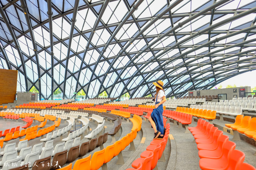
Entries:
<svg viewBox="0 0 256 170">
<path fill-rule="evenodd" d="M 163 138 L 165 134 L 165 128 L 163 127 L 163 103 L 165 103 L 166 97 L 163 82 L 159 80 L 153 84 L 157 91 L 155 95 L 155 109 L 153 109 L 149 121 L 155 131 L 154 139 L 156 139 Z"/>
</svg>

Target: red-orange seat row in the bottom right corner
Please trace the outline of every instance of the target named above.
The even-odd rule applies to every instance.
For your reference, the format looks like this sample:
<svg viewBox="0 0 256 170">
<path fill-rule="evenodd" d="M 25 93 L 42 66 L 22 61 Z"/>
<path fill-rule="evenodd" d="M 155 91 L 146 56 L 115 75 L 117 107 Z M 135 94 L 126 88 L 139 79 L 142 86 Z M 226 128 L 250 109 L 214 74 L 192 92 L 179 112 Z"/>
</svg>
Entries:
<svg viewBox="0 0 256 170">
<path fill-rule="evenodd" d="M 223 135 L 223 131 L 217 127 L 199 119 L 196 127 L 189 127 L 195 138 L 199 160 L 199 166 L 203 170 L 246 169 L 255 170 L 253 166 L 243 163 L 245 154 L 235 150 L 236 144 L 229 141 L 229 137 Z"/>
</svg>

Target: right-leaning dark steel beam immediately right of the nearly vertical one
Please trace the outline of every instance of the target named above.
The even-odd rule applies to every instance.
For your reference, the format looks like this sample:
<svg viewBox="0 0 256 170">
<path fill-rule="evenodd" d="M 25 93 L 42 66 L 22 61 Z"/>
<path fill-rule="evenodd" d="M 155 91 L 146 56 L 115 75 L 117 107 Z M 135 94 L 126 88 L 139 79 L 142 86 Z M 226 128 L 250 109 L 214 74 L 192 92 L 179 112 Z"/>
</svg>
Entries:
<svg viewBox="0 0 256 170">
<path fill-rule="evenodd" d="M 79 0 L 75 0 L 74 5 L 74 13 L 73 17 L 71 18 L 71 28 L 70 28 L 70 34 L 69 34 L 69 46 L 67 47 L 67 56 L 66 56 L 66 66 L 65 66 L 65 76 L 64 76 L 64 84 L 63 84 L 63 99 L 65 99 L 65 91 L 66 91 L 66 81 L 67 81 L 67 67 L 69 65 L 69 54 L 70 54 L 70 48 L 73 38 L 73 32 L 75 28 L 75 22 L 77 21 L 77 10 L 78 10 Z"/>
</svg>

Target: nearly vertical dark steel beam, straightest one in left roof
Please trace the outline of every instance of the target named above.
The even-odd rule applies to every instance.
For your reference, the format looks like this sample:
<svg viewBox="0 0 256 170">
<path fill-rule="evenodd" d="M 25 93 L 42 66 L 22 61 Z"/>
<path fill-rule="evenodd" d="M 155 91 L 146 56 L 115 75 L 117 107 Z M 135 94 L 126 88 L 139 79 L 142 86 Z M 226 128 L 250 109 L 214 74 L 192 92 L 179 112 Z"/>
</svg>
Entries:
<svg viewBox="0 0 256 170">
<path fill-rule="evenodd" d="M 49 18 L 48 20 L 49 20 L 50 48 L 51 48 L 51 51 L 50 51 L 50 55 L 51 55 L 51 99 L 53 99 L 53 82 L 54 82 L 54 79 L 53 79 L 54 56 L 53 55 L 54 55 L 54 53 L 53 53 L 53 12 L 51 10 L 51 0 L 47 0 L 47 7 L 48 7 L 47 14 L 48 14 L 48 18 Z"/>
</svg>

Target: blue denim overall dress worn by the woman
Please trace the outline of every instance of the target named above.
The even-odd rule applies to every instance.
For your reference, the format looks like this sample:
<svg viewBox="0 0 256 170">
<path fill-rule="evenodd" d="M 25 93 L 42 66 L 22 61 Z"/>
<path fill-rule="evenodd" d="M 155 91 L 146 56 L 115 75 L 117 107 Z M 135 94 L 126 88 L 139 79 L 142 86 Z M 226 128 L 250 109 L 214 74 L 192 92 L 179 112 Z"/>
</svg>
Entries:
<svg viewBox="0 0 256 170">
<path fill-rule="evenodd" d="M 157 93 L 158 95 L 158 93 Z M 158 104 L 160 102 L 157 101 L 155 104 Z M 159 105 L 156 109 L 153 109 L 153 112 L 151 113 L 151 118 L 155 122 L 155 126 L 159 132 L 163 135 L 163 104 Z"/>
</svg>

